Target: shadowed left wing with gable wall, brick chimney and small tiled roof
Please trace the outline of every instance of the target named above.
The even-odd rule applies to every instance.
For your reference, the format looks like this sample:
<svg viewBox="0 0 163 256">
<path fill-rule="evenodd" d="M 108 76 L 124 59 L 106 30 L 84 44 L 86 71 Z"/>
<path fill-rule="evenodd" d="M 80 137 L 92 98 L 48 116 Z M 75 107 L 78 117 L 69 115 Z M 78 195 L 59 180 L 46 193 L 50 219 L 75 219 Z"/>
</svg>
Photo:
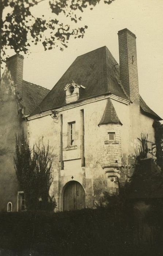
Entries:
<svg viewBox="0 0 163 256">
<path fill-rule="evenodd" d="M 0 87 L 0 210 L 5 211 L 17 211 L 19 198 L 23 198 L 14 169 L 15 135 L 22 129 L 27 132 L 24 117 L 49 92 L 23 80 L 23 59 L 22 55 L 16 54 L 7 60 Z"/>
</svg>

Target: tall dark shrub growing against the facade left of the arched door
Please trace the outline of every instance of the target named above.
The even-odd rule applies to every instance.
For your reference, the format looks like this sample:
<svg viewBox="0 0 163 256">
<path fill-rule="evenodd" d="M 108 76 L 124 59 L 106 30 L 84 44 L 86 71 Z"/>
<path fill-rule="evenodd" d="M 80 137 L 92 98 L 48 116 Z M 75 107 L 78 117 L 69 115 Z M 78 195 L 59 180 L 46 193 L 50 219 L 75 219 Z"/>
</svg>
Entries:
<svg viewBox="0 0 163 256">
<path fill-rule="evenodd" d="M 54 197 L 49 196 L 53 182 L 53 154 L 49 144 L 43 145 L 43 139 L 29 147 L 24 134 L 16 137 L 14 164 L 20 189 L 24 191 L 27 210 L 54 210 Z"/>
</svg>

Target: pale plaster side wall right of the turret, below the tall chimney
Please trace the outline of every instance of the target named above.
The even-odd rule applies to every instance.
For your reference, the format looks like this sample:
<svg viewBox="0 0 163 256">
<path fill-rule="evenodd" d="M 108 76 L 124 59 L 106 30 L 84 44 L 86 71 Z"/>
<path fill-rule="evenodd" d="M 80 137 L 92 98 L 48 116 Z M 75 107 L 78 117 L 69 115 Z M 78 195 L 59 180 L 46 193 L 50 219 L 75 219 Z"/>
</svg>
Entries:
<svg viewBox="0 0 163 256">
<path fill-rule="evenodd" d="M 126 106 L 117 101 L 112 102 L 123 124 L 121 128 L 122 164 L 124 166 L 122 172 L 131 176 L 134 170 L 132 164 L 135 163 L 135 150 L 139 151 L 140 146 L 137 138 L 141 139 L 141 133 L 145 136 L 148 134 L 149 148 L 151 148 L 152 143 L 155 143 L 155 132 L 152 127 L 153 119 L 142 114 L 140 106 L 136 103 L 130 103 L 129 106 Z M 126 179 L 127 176 L 124 176 L 123 173 L 121 173 L 121 178 Z"/>
</svg>

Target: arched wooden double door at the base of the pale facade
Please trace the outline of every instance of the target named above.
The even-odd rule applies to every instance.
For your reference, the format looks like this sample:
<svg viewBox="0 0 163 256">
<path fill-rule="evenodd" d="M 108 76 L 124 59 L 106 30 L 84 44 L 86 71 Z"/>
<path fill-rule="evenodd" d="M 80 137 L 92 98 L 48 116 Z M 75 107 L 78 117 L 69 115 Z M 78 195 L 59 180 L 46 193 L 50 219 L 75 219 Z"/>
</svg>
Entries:
<svg viewBox="0 0 163 256">
<path fill-rule="evenodd" d="M 63 210 L 80 210 L 85 207 L 85 192 L 77 181 L 70 181 L 64 189 Z"/>
</svg>

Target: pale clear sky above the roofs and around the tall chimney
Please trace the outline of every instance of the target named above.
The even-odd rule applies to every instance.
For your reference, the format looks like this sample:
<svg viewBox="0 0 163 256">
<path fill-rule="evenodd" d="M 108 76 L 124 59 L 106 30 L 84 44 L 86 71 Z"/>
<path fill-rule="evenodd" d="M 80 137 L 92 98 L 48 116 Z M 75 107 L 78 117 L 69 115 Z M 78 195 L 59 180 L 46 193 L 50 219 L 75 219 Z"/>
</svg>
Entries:
<svg viewBox="0 0 163 256">
<path fill-rule="evenodd" d="M 44 14 L 47 8 L 42 2 L 35 12 Z M 42 46 L 32 46 L 24 56 L 23 79 L 52 89 L 77 56 L 104 45 L 119 63 L 117 33 L 128 28 L 137 37 L 140 94 L 163 118 L 163 1 L 115 0 L 107 5 L 101 0 L 81 16 L 79 26 L 88 26 L 84 38 L 71 39 L 63 52 L 59 47 L 45 52 Z"/>
</svg>

